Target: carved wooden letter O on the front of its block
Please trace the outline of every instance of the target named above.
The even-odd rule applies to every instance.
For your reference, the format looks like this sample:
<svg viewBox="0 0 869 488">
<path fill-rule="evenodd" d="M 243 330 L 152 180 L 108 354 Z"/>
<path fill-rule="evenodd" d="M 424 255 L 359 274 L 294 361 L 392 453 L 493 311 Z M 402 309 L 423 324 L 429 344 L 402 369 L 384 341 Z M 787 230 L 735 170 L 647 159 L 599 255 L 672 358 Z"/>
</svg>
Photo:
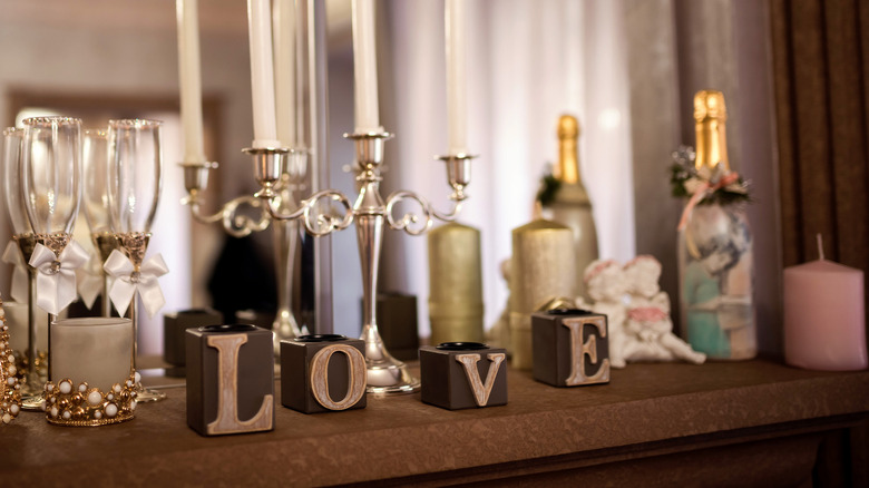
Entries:
<svg viewBox="0 0 869 488">
<path fill-rule="evenodd" d="M 340 352 L 348 360 L 348 388 L 341 401 L 329 396 L 329 360 Z M 316 401 L 329 410 L 346 410 L 365 394 L 365 357 L 349 344 L 328 345 L 314 354 L 311 360 L 311 391 Z"/>
</svg>

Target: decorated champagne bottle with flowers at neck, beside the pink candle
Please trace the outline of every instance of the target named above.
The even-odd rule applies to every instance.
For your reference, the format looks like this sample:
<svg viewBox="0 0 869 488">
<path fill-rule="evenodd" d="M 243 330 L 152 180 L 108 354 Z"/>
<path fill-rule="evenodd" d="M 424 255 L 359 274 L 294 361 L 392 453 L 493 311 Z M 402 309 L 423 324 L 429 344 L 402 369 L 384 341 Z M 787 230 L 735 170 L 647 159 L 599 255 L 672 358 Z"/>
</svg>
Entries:
<svg viewBox="0 0 869 488">
<path fill-rule="evenodd" d="M 711 359 L 756 355 L 752 236 L 746 184 L 728 160 L 721 91 L 694 96 L 696 154 L 677 153 L 674 195 L 686 197 L 678 225 L 682 338 Z M 681 154 L 681 156 L 678 156 Z"/>
</svg>

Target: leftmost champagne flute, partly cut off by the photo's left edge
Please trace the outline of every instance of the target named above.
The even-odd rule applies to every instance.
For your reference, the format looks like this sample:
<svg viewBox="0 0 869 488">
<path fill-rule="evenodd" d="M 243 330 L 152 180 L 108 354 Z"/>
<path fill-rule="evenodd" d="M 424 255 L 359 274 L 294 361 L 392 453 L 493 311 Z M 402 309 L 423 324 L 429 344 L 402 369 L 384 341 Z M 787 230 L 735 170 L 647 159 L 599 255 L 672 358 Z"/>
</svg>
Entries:
<svg viewBox="0 0 869 488">
<path fill-rule="evenodd" d="M 27 263 L 33 254 L 36 236 L 30 221 L 27 219 L 25 209 L 25 195 L 21 192 L 21 145 L 25 138 L 25 129 L 9 127 L 3 130 L 3 192 L 6 206 L 9 209 L 9 218 L 12 222 L 12 240 L 16 241 Z M 28 284 L 28 328 L 27 351 L 21 351 L 27 361 L 25 381 L 21 383 L 21 394 L 25 402 L 31 402 L 35 398 L 41 398 L 45 372 L 40 374 L 40 367 L 45 363 L 39 359 L 37 351 L 37 323 L 39 322 L 39 309 L 36 306 L 36 269 L 27 266 Z"/>
</svg>

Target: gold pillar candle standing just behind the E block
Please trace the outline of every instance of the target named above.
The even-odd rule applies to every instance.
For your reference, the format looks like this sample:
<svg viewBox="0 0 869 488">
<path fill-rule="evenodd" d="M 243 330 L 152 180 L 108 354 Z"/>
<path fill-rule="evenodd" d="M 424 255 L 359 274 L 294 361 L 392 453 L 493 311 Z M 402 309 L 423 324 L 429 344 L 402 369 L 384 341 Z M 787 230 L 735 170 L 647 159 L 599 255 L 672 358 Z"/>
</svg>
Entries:
<svg viewBox="0 0 869 488">
<path fill-rule="evenodd" d="M 576 296 L 576 256 L 570 228 L 537 219 L 512 231 L 510 342 L 512 365 L 530 370 L 531 313 L 553 299 Z"/>
</svg>

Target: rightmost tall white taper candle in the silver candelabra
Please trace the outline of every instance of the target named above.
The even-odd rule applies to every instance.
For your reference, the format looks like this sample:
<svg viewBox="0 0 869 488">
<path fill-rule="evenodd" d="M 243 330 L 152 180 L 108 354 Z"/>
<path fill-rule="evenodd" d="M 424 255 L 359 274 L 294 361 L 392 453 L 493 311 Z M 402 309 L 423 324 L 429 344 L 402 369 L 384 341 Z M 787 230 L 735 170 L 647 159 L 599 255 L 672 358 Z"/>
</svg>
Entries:
<svg viewBox="0 0 869 488">
<path fill-rule="evenodd" d="M 448 148 L 451 155 L 468 152 L 468 103 L 466 82 L 467 49 L 465 25 L 466 0 L 447 0 L 447 119 L 449 127 Z"/>
</svg>

